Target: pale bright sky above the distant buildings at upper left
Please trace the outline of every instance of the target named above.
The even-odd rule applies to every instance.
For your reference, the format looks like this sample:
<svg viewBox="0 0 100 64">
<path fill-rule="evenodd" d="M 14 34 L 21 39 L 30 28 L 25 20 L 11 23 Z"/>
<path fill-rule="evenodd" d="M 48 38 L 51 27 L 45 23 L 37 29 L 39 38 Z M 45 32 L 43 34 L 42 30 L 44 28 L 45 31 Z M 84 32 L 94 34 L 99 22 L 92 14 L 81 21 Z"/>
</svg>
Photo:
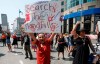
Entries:
<svg viewBox="0 0 100 64">
<path fill-rule="evenodd" d="M 48 1 L 48 0 L 0 0 L 0 24 L 1 24 L 1 14 L 7 14 L 7 20 L 10 29 L 12 29 L 13 22 L 15 18 L 19 16 L 19 9 L 23 12 L 20 17 L 25 17 L 25 5 L 34 4 L 38 1 Z"/>
</svg>

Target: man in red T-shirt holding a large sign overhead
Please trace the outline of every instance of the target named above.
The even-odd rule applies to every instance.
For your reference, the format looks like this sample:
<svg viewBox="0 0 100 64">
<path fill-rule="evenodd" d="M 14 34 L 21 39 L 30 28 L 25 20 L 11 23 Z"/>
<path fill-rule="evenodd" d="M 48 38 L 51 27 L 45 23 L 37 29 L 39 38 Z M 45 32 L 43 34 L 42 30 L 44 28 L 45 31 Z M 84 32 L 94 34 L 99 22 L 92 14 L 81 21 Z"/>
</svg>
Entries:
<svg viewBox="0 0 100 64">
<path fill-rule="evenodd" d="M 38 34 L 38 39 L 32 33 L 29 35 L 33 39 L 33 44 L 37 45 L 37 64 L 50 64 L 50 45 L 55 34 L 52 33 L 47 39 L 41 33 Z"/>
</svg>

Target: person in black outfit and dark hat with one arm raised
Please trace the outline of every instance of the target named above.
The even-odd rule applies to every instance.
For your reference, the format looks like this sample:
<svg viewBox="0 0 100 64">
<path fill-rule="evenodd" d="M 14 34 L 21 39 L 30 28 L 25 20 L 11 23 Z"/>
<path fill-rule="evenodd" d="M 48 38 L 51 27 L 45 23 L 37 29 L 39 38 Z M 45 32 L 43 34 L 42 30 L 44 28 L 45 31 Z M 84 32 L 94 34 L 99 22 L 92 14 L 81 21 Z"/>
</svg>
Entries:
<svg viewBox="0 0 100 64">
<path fill-rule="evenodd" d="M 80 22 L 76 23 L 75 28 L 72 29 L 73 35 L 77 34 L 76 28 L 80 24 Z M 76 53 L 73 60 L 73 64 L 88 64 L 88 58 L 90 54 L 90 49 L 95 54 L 95 49 L 91 43 L 91 40 L 85 34 L 85 29 L 80 29 L 77 37 L 74 37 L 74 43 L 76 43 Z M 90 48 L 89 48 L 90 47 Z"/>
</svg>

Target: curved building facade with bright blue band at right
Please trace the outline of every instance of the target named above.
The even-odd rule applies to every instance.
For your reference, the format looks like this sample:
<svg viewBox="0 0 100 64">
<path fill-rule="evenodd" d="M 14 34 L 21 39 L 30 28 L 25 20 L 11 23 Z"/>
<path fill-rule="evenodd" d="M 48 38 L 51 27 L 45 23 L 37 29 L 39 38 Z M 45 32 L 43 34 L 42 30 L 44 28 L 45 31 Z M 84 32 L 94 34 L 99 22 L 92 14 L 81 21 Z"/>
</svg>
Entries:
<svg viewBox="0 0 100 64">
<path fill-rule="evenodd" d="M 100 21 L 100 0 L 66 0 L 66 11 L 64 11 L 64 30 L 72 30 L 77 21 L 81 22 L 80 28 L 85 28 L 86 33 L 95 31 L 96 23 Z"/>
</svg>

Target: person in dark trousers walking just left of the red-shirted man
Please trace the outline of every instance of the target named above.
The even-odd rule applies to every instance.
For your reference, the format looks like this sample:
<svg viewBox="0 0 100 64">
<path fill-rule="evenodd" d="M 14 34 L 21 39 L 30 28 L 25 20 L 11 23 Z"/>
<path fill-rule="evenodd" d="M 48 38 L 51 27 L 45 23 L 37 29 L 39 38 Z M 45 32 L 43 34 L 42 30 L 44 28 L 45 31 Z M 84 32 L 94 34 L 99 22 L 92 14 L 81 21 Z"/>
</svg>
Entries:
<svg viewBox="0 0 100 64">
<path fill-rule="evenodd" d="M 32 56 L 32 52 L 31 52 L 31 49 L 30 49 L 30 38 L 29 38 L 29 35 L 27 33 L 25 33 L 25 36 L 24 36 L 24 50 L 25 50 L 25 59 L 29 58 L 28 54 L 30 55 L 30 60 L 33 59 L 33 56 Z"/>
</svg>

